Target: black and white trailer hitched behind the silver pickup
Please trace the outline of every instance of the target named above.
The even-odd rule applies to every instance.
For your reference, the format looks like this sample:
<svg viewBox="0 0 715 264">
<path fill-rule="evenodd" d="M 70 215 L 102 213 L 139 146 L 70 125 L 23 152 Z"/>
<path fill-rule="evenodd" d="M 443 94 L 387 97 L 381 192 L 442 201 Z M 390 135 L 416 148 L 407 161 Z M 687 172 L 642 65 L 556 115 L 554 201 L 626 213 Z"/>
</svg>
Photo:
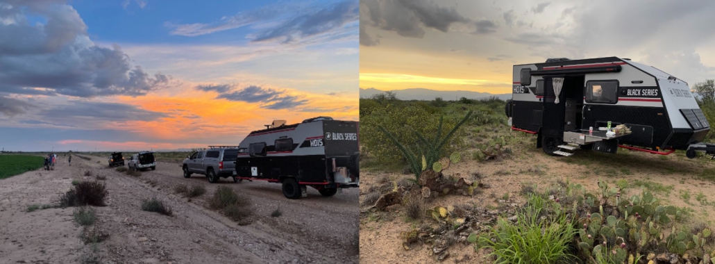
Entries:
<svg viewBox="0 0 715 264">
<path fill-rule="evenodd" d="M 266 127 L 240 143 L 237 179 L 282 183 L 290 199 L 305 197 L 307 186 L 323 196 L 359 187 L 359 122 L 315 117 L 299 124 L 276 120 Z"/>
</svg>

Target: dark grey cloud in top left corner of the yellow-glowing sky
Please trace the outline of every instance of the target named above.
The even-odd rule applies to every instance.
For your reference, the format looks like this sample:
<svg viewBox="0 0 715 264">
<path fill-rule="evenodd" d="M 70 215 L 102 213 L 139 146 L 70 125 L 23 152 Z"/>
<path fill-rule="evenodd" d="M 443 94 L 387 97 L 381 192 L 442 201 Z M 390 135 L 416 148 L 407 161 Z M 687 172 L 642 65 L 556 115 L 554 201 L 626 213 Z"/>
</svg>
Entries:
<svg viewBox="0 0 715 264">
<path fill-rule="evenodd" d="M 452 24 L 470 22 L 471 19 L 460 15 L 454 7 L 438 6 L 428 0 L 360 1 L 360 26 L 370 25 L 385 31 L 395 31 L 400 36 L 422 38 L 425 35 L 423 27 L 447 32 Z M 482 25 L 481 29 L 478 26 L 477 31 L 492 30 L 489 25 Z M 363 36 L 372 39 L 364 30 L 360 35 L 363 46 L 379 44 L 375 41 L 363 43 Z"/>
</svg>

